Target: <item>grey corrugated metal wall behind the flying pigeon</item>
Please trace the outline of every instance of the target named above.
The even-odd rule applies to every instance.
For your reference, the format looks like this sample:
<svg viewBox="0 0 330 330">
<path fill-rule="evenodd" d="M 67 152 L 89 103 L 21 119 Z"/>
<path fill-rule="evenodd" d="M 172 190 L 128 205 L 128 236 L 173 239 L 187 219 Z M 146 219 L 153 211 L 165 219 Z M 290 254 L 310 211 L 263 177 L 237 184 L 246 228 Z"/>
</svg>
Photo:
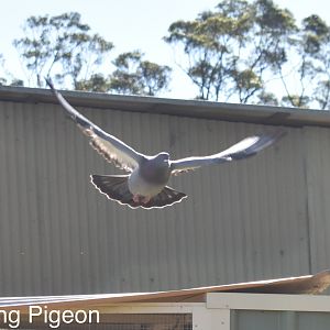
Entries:
<svg viewBox="0 0 330 330">
<path fill-rule="evenodd" d="M 173 157 L 272 130 L 82 112 L 139 151 Z M 89 174 L 117 170 L 59 107 L 0 102 L 0 296 L 165 290 L 329 267 L 330 130 L 286 130 L 256 157 L 175 177 L 183 202 L 132 210 L 89 184 Z"/>
</svg>

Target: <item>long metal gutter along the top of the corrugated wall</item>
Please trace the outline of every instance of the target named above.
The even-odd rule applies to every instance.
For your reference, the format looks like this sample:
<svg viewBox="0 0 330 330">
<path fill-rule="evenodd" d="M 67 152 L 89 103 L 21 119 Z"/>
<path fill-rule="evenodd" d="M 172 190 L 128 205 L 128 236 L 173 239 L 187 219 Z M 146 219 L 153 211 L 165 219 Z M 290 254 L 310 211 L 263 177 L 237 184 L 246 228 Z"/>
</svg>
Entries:
<svg viewBox="0 0 330 330">
<path fill-rule="evenodd" d="M 330 111 L 255 105 L 180 100 L 100 92 L 62 91 L 76 107 L 193 117 L 272 125 L 330 127 Z M 47 89 L 0 86 L 0 101 L 57 103 Z"/>
</svg>

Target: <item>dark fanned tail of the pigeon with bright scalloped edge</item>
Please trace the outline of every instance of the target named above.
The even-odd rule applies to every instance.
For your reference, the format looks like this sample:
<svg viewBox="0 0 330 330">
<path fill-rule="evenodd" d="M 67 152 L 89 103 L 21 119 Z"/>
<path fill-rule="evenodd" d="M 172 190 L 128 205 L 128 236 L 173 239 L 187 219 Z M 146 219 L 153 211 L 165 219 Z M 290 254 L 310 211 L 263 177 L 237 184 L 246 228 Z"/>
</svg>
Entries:
<svg viewBox="0 0 330 330">
<path fill-rule="evenodd" d="M 129 175 L 91 175 L 92 185 L 109 199 L 116 200 L 121 205 L 128 205 L 131 208 L 142 207 L 145 209 L 163 208 L 175 202 L 179 202 L 187 195 L 176 191 L 169 187 L 164 189 L 148 202 L 134 201 L 133 195 L 128 185 Z"/>
</svg>

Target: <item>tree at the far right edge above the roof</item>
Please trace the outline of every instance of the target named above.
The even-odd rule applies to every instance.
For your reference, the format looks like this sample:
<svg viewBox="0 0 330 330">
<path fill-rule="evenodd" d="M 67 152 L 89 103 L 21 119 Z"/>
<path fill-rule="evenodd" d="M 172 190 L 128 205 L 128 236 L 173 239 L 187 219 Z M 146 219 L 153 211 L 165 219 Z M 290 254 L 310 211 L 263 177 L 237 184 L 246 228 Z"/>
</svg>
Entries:
<svg viewBox="0 0 330 330">
<path fill-rule="evenodd" d="M 318 15 L 302 20 L 301 29 L 293 43 L 292 56 L 297 58 L 295 70 L 279 67 L 278 73 L 286 96 L 282 103 L 290 107 L 329 108 L 330 29 Z M 285 72 L 286 69 L 286 72 Z M 289 80 L 290 79 L 290 80 Z M 287 82 L 292 82 L 289 84 Z"/>
</svg>

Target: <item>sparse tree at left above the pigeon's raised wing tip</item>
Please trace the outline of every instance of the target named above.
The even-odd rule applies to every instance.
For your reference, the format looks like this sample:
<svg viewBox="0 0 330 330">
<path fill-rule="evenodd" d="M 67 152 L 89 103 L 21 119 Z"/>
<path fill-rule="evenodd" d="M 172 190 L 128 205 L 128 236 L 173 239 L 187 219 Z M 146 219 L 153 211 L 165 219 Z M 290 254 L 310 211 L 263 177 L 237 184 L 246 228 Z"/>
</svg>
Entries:
<svg viewBox="0 0 330 330">
<path fill-rule="evenodd" d="M 28 69 L 30 86 L 44 86 L 43 76 L 53 76 L 57 84 L 69 79 L 76 88 L 86 80 L 112 50 L 111 42 L 81 23 L 77 12 L 57 16 L 30 16 L 25 36 L 13 42 Z"/>
</svg>

